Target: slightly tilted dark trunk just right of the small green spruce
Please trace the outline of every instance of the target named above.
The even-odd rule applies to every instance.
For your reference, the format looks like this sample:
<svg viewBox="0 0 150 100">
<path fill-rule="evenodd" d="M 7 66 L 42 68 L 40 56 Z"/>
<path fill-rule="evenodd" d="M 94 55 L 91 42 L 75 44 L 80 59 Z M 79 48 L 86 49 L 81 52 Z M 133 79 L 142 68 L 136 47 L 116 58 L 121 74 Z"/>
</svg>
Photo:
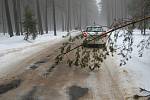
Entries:
<svg viewBox="0 0 150 100">
<path fill-rule="evenodd" d="M 42 35 L 43 27 L 42 27 L 42 19 L 41 19 L 39 0 L 36 0 L 36 5 L 37 5 L 38 28 L 39 28 L 39 33 Z"/>
</svg>

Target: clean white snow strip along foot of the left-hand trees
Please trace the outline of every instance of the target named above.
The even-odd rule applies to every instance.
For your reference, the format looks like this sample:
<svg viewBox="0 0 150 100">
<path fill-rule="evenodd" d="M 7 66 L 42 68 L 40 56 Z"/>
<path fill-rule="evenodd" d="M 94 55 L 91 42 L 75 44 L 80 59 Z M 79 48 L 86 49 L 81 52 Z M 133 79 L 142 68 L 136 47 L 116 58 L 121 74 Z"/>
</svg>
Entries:
<svg viewBox="0 0 150 100">
<path fill-rule="evenodd" d="M 24 36 L 14 36 L 12 38 L 9 38 L 7 35 L 0 36 L 0 50 L 21 48 L 49 40 L 60 39 L 66 34 L 67 32 L 58 32 L 57 36 L 54 36 L 53 32 L 49 32 L 49 34 L 39 35 L 36 40 L 30 40 L 30 42 L 25 41 Z"/>
</svg>

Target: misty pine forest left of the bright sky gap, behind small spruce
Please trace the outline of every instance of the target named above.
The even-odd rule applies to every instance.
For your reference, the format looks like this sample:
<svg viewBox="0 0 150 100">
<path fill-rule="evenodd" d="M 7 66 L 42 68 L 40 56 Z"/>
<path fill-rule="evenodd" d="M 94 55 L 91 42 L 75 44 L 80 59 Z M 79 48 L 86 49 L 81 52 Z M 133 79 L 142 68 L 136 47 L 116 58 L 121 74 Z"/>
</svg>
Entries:
<svg viewBox="0 0 150 100">
<path fill-rule="evenodd" d="M 95 0 L 0 0 L 0 7 L 0 33 L 10 37 L 26 33 L 26 7 L 36 20 L 38 34 L 81 29 L 99 18 Z"/>
</svg>

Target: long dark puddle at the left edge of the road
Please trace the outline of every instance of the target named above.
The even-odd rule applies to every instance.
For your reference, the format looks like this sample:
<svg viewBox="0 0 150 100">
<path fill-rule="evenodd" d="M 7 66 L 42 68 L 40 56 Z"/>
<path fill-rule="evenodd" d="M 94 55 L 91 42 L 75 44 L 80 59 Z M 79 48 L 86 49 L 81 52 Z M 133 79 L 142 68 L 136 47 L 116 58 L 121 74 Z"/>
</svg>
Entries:
<svg viewBox="0 0 150 100">
<path fill-rule="evenodd" d="M 16 89 L 17 87 L 20 86 L 21 82 L 22 81 L 20 79 L 17 79 L 17 80 L 13 80 L 9 83 L 0 85 L 0 95 L 4 94 L 10 90 Z"/>
</svg>

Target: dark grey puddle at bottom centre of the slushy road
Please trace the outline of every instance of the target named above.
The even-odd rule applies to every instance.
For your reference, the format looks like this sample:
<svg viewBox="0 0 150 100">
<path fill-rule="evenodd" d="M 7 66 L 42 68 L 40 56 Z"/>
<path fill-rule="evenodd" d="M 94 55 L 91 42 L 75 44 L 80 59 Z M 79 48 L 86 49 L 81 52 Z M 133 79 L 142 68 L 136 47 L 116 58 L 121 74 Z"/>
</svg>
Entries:
<svg viewBox="0 0 150 100">
<path fill-rule="evenodd" d="M 69 87 L 69 97 L 70 100 L 79 100 L 79 98 L 83 97 L 88 93 L 89 89 L 88 88 L 82 88 L 79 86 L 71 86 Z"/>
</svg>

